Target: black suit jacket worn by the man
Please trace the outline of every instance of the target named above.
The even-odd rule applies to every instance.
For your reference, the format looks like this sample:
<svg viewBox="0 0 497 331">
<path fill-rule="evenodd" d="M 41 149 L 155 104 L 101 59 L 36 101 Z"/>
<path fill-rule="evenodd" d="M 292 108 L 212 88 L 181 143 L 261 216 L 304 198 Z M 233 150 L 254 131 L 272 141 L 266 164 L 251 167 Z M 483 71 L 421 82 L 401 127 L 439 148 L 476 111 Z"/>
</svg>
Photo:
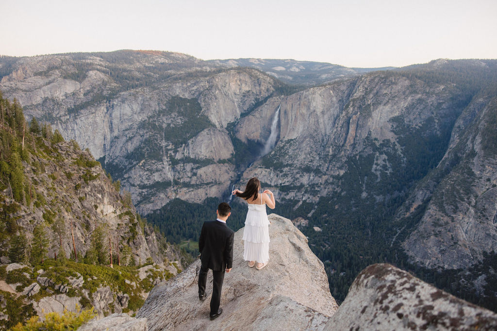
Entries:
<svg viewBox="0 0 497 331">
<path fill-rule="evenodd" d="M 198 249 L 202 267 L 221 271 L 233 267 L 235 232 L 226 223 L 207 221 L 202 225 Z"/>
</svg>

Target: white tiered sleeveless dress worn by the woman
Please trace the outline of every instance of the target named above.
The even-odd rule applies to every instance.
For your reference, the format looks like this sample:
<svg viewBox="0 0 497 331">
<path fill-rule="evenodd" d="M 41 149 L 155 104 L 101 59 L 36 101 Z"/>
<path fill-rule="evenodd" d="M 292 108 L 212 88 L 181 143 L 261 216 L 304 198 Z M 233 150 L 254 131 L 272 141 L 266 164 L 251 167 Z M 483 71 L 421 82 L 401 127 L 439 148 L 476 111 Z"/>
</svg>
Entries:
<svg viewBox="0 0 497 331">
<path fill-rule="evenodd" d="M 262 202 L 262 196 L 260 197 Z M 269 261 L 269 220 L 266 204 L 248 204 L 244 229 L 244 260 L 266 263 Z"/>
</svg>

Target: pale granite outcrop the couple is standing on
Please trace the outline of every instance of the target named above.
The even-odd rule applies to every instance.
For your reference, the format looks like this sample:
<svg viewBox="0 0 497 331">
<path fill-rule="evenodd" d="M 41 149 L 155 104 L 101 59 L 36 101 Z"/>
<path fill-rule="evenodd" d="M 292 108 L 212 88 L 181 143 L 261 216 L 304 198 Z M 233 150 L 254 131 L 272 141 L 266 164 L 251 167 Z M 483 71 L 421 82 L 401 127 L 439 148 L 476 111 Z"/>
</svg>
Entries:
<svg viewBox="0 0 497 331">
<path fill-rule="evenodd" d="M 209 321 L 210 296 L 198 300 L 199 260 L 157 285 L 136 316 L 148 319 L 149 330 L 322 330 L 338 308 L 323 263 L 290 220 L 275 214 L 269 220 L 269 264 L 262 270 L 243 261 L 243 229 L 236 232 L 219 318 Z"/>
</svg>

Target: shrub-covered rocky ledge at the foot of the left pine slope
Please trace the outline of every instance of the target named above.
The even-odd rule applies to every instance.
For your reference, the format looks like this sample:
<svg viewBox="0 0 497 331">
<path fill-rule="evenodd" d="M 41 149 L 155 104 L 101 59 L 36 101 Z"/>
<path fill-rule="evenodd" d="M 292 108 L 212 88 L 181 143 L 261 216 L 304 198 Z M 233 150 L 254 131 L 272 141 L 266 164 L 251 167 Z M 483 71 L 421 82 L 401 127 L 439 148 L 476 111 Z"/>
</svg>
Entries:
<svg viewBox="0 0 497 331">
<path fill-rule="evenodd" d="M 10 292 L 15 297 L 22 296 L 21 298 L 33 305 L 33 309 L 42 320 L 46 314 L 52 312 L 61 315 L 65 310 L 77 313 L 78 306 L 81 308 L 83 302 L 90 303 L 83 308 L 93 307 L 97 319 L 113 312 L 125 312 L 127 316 L 132 315 L 136 311 L 129 308 L 130 297 L 133 297 L 135 301 L 143 301 L 147 298 L 148 291 L 153 285 L 177 273 L 174 266 L 168 267 L 171 270 L 169 272 L 165 271 L 162 265 L 146 265 L 136 270 L 127 270 L 125 275 L 129 279 L 124 278 L 126 284 L 124 285 L 121 279 L 123 272 L 112 269 L 112 271 L 108 271 L 109 274 L 112 274 L 111 277 L 94 274 L 85 278 L 86 275 L 83 277 L 78 272 L 67 270 L 65 270 L 66 273 L 73 275 L 62 277 L 53 267 L 49 267 L 47 270 L 34 271 L 32 267 L 26 265 L 10 264 L 5 266 L 7 278 L 15 278 L 15 275 L 9 273 L 20 268 L 23 269 L 22 276 L 17 275 L 17 278 L 28 285 L 22 291 L 17 292 L 14 289 L 18 288 L 21 283 L 8 284 L 1 280 L 0 290 Z M 59 270 L 61 270 L 60 266 Z M 38 276 L 33 279 L 35 275 Z M 37 295 L 35 296 L 35 294 Z M 135 310 L 137 308 L 139 307 L 132 307 Z"/>
</svg>

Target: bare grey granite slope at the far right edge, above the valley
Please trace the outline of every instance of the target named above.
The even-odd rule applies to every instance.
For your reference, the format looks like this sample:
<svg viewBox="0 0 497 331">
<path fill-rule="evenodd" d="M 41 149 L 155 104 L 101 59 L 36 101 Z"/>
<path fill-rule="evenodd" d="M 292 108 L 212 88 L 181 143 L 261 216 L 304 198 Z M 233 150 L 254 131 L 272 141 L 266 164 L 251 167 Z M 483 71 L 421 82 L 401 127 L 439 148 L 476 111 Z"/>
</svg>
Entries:
<svg viewBox="0 0 497 331">
<path fill-rule="evenodd" d="M 403 247 L 429 267 L 467 268 L 497 251 L 497 98 L 479 98 L 456 123 L 435 172 L 400 210 L 404 222 L 420 205 L 424 214 Z M 464 123 L 468 122 L 468 123 Z"/>
</svg>

